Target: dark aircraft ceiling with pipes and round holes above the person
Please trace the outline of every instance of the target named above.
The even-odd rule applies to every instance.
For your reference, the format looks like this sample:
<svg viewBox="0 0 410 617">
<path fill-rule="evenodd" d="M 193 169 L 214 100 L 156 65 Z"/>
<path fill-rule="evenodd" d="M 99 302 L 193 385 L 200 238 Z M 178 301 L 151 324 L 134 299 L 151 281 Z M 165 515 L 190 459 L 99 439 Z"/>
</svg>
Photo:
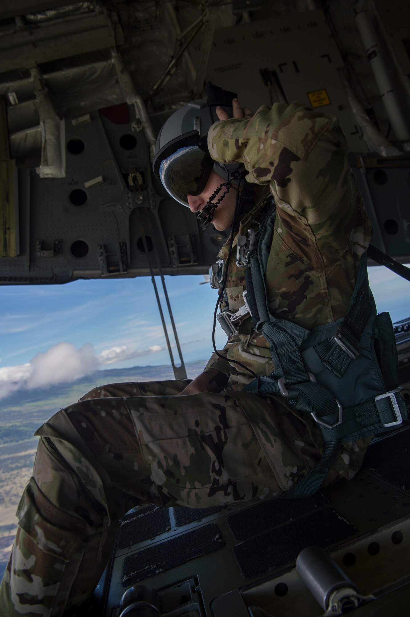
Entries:
<svg viewBox="0 0 410 617">
<path fill-rule="evenodd" d="M 207 273 L 227 233 L 202 231 L 150 165 L 207 80 L 254 110 L 338 115 L 372 242 L 408 261 L 409 41 L 399 0 L 3 0 L 0 282 L 148 275 L 156 256 L 164 274 Z"/>
</svg>

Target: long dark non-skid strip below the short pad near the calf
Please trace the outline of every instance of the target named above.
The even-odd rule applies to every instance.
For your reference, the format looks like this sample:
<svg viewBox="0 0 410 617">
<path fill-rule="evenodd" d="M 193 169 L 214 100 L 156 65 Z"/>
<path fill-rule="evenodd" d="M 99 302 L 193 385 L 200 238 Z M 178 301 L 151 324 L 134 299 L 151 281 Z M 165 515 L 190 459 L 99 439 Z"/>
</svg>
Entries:
<svg viewBox="0 0 410 617">
<path fill-rule="evenodd" d="M 188 531 L 126 557 L 121 584 L 129 587 L 150 576 L 187 563 L 190 559 L 222 549 L 223 546 L 225 542 L 215 523 Z"/>
</svg>

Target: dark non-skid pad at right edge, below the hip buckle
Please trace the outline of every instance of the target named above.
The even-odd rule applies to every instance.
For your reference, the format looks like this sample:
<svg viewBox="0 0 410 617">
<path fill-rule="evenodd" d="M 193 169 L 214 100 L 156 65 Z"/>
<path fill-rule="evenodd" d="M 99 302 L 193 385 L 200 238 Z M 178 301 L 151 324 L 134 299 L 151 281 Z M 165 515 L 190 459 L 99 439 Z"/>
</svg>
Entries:
<svg viewBox="0 0 410 617">
<path fill-rule="evenodd" d="M 387 482 L 410 491 L 410 428 L 369 445 L 362 469 L 374 470 Z"/>
</svg>

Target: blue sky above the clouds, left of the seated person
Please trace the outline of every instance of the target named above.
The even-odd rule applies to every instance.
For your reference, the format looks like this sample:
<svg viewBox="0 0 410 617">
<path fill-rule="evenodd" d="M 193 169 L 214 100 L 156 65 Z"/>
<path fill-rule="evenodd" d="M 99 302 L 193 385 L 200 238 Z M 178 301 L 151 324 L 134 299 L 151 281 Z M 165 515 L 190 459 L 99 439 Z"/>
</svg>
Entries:
<svg viewBox="0 0 410 617">
<path fill-rule="evenodd" d="M 203 276 L 166 277 L 186 362 L 211 355 L 212 307 L 217 296 L 209 284 L 199 285 L 203 282 Z M 158 277 L 156 283 L 172 336 Z M 150 346 L 166 346 L 149 277 L 75 281 L 62 286 L 7 286 L 0 288 L 0 296 L 0 367 L 30 362 L 34 355 L 62 341 L 75 347 L 90 343 L 96 354 L 113 347 L 144 351 Z M 225 338 L 217 331 L 220 344 Z M 137 359 L 116 362 L 115 368 L 169 364 L 167 350 Z"/>
</svg>

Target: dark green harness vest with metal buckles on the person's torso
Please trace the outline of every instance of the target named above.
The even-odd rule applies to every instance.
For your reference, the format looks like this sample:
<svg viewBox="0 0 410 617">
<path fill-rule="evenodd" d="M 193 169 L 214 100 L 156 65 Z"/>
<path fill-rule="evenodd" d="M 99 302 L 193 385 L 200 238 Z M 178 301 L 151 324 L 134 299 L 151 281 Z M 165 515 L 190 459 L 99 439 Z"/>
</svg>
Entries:
<svg viewBox="0 0 410 617">
<path fill-rule="evenodd" d="M 268 377 L 255 379 L 243 391 L 279 394 L 295 410 L 310 413 L 320 426 L 325 442 L 323 458 L 281 495 L 309 497 L 320 488 L 342 442 L 395 429 L 408 420 L 408 410 L 397 388 L 392 321 L 389 313 L 376 314 L 366 253 L 361 257 L 345 317 L 307 330 L 271 315 L 265 273 L 275 217 L 273 206 L 256 234 L 246 268 L 247 310 L 255 330 L 270 344 L 275 370 Z"/>
</svg>

